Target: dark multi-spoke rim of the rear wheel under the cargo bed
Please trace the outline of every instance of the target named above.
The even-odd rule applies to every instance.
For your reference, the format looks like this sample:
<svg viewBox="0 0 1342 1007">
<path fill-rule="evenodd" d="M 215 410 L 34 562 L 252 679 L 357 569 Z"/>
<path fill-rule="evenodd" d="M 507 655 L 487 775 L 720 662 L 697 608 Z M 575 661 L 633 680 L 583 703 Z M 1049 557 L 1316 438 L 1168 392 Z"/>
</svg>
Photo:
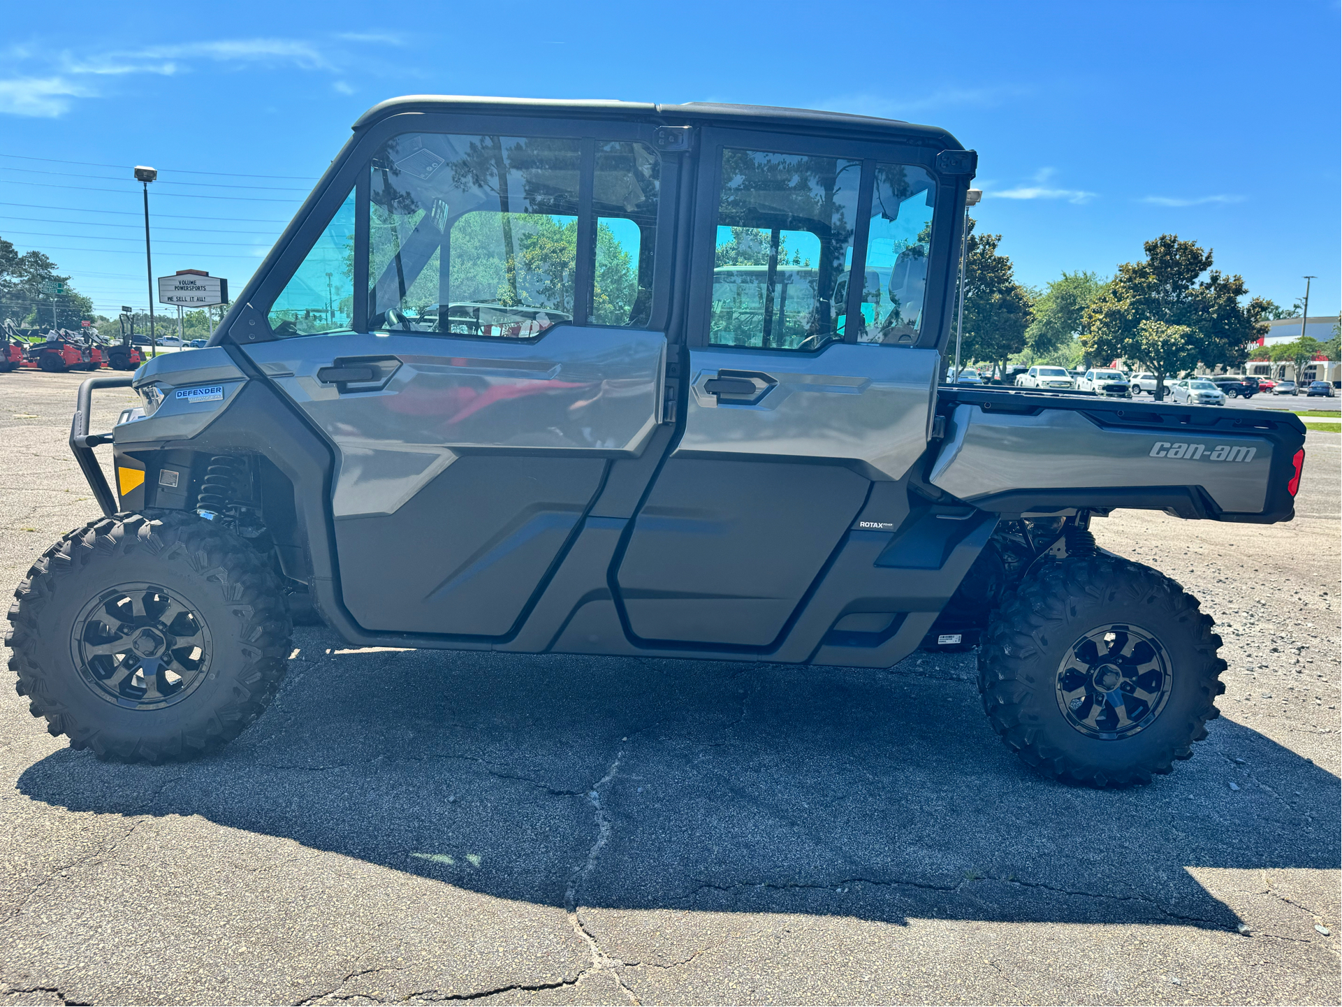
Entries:
<svg viewBox="0 0 1342 1007">
<path fill-rule="evenodd" d="M 1099 626 L 1057 666 L 1057 709 L 1087 737 L 1118 741 L 1149 728 L 1170 697 L 1161 642 L 1131 624 Z"/>
</svg>

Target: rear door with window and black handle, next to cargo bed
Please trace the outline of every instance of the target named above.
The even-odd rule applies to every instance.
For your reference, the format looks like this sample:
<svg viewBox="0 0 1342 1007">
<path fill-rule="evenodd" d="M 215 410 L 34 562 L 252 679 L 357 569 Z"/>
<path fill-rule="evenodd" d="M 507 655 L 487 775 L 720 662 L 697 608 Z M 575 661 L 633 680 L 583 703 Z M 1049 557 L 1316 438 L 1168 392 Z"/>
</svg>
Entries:
<svg viewBox="0 0 1342 1007">
<path fill-rule="evenodd" d="M 684 431 L 617 587 L 636 638 L 766 650 L 872 482 L 926 448 L 938 187 L 917 150 L 703 140 Z"/>
</svg>

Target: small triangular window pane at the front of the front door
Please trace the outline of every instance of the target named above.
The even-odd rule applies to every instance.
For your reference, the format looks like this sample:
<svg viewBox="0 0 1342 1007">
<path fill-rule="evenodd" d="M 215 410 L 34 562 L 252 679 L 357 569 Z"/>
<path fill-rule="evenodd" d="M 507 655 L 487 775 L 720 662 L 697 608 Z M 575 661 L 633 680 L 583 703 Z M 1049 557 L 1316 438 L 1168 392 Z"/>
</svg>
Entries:
<svg viewBox="0 0 1342 1007">
<path fill-rule="evenodd" d="M 341 203 L 311 251 L 271 305 L 280 337 L 350 332 L 354 310 L 354 193 Z"/>
</svg>

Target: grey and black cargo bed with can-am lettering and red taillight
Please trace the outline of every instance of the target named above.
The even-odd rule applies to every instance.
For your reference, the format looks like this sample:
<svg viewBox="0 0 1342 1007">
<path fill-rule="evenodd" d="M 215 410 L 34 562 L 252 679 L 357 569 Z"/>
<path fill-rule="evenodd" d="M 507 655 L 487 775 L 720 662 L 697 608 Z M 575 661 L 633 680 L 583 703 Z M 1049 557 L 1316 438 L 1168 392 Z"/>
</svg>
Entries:
<svg viewBox="0 0 1342 1007">
<path fill-rule="evenodd" d="M 938 412 L 946 438 L 927 481 L 984 510 L 1295 514 L 1304 424 L 1294 414 L 960 389 L 941 389 Z"/>
</svg>

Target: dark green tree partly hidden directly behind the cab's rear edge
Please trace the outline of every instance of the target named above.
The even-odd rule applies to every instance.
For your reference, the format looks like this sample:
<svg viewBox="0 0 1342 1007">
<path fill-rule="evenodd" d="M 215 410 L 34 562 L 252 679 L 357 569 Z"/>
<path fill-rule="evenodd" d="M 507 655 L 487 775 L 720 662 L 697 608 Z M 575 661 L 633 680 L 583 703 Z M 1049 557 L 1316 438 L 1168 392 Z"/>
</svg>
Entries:
<svg viewBox="0 0 1342 1007">
<path fill-rule="evenodd" d="M 1029 291 L 1016 282 L 1012 262 L 997 254 L 1000 234 L 974 234 L 969 220 L 965 255 L 965 341 L 962 358 L 985 360 L 1002 368 L 1025 348 L 1033 321 Z"/>
</svg>

